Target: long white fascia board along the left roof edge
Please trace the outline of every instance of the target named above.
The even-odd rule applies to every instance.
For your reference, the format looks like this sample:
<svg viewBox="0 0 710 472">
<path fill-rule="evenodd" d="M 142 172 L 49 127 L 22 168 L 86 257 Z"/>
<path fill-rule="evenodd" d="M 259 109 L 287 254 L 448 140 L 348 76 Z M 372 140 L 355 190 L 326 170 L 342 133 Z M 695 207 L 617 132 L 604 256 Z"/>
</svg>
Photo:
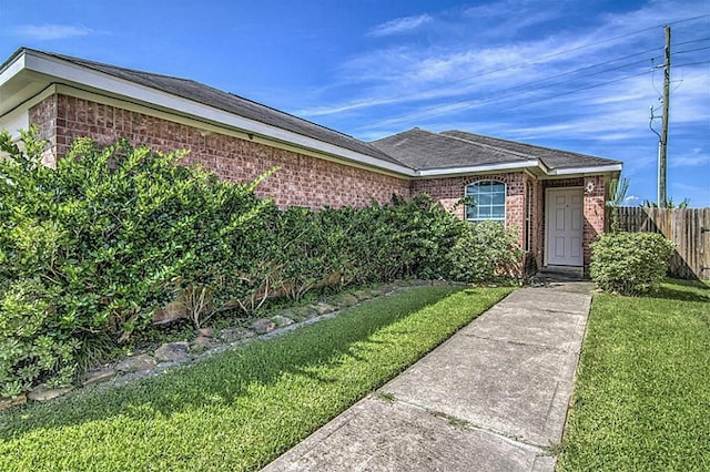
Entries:
<svg viewBox="0 0 710 472">
<path fill-rule="evenodd" d="M 295 144 L 296 146 L 307 147 L 345 160 L 352 160 L 373 167 L 379 167 L 398 174 L 404 174 L 406 176 L 414 177 L 416 175 L 414 170 L 405 167 L 403 165 L 378 160 L 376 157 L 368 156 L 356 151 L 325 143 L 323 141 L 304 136 L 298 133 L 293 133 L 277 126 L 272 126 L 270 124 L 239 116 L 233 113 L 215 109 L 213 106 L 194 102 L 192 100 L 182 99 L 180 96 L 140 85 L 123 79 L 114 78 L 99 71 L 93 71 L 77 64 L 71 64 L 60 59 L 45 57 L 44 54 L 39 54 L 32 51 L 28 51 L 23 55 L 27 57 L 26 68 L 28 70 L 51 75 L 61 81 L 73 82 L 84 86 L 90 86 L 92 89 L 109 92 L 111 94 L 126 96 L 139 102 L 150 103 L 152 105 L 156 105 L 168 110 L 197 116 L 203 120 L 226 124 L 229 126 L 243 130 L 246 133 L 253 133 L 264 137 Z"/>
</svg>

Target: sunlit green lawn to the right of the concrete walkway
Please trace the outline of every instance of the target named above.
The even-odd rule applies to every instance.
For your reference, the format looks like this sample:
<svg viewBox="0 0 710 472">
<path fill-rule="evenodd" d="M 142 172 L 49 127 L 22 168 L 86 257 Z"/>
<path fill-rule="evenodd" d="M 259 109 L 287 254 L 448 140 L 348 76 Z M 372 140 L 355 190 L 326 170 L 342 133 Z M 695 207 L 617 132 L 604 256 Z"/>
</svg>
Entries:
<svg viewBox="0 0 710 472">
<path fill-rule="evenodd" d="M 710 287 L 594 298 L 558 471 L 710 470 Z"/>
</svg>

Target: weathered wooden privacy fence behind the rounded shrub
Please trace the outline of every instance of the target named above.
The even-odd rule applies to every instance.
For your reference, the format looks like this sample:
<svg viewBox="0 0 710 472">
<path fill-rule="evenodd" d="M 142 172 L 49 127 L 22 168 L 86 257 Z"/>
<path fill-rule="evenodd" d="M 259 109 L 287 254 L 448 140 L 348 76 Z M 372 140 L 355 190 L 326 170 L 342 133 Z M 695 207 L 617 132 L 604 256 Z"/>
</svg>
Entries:
<svg viewBox="0 0 710 472">
<path fill-rule="evenodd" d="M 710 280 L 710 208 L 621 207 L 618 211 L 620 230 L 660 233 L 676 244 L 671 276 Z"/>
</svg>

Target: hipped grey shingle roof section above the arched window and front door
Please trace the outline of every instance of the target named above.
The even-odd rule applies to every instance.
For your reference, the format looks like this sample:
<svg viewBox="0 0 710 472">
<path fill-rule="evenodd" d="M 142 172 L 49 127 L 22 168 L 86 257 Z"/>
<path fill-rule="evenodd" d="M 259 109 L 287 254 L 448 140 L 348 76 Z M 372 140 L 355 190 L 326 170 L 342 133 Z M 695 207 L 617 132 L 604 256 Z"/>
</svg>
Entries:
<svg viewBox="0 0 710 472">
<path fill-rule="evenodd" d="M 372 142 L 381 151 L 418 171 L 433 168 L 537 166 L 547 171 L 620 165 L 618 161 L 483 136 L 464 131 L 434 133 L 415 127 Z"/>
</svg>

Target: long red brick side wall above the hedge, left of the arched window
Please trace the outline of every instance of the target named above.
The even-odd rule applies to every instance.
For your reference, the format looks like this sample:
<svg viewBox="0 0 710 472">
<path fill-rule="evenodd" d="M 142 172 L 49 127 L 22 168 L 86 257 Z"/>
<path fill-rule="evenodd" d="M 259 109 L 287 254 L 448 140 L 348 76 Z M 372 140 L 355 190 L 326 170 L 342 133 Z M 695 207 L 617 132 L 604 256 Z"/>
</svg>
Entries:
<svg viewBox="0 0 710 472">
<path fill-rule="evenodd" d="M 409 196 L 404 178 L 333 163 L 292 151 L 174 123 L 68 95 L 52 95 L 30 110 L 30 122 L 49 141 L 48 162 L 67 154 L 77 137 L 100 144 L 128 137 L 134 145 L 171 152 L 190 150 L 186 163 L 201 162 L 221 178 L 252 181 L 271 167 L 280 171 L 257 188 L 280 206 L 364 206 Z"/>
</svg>

